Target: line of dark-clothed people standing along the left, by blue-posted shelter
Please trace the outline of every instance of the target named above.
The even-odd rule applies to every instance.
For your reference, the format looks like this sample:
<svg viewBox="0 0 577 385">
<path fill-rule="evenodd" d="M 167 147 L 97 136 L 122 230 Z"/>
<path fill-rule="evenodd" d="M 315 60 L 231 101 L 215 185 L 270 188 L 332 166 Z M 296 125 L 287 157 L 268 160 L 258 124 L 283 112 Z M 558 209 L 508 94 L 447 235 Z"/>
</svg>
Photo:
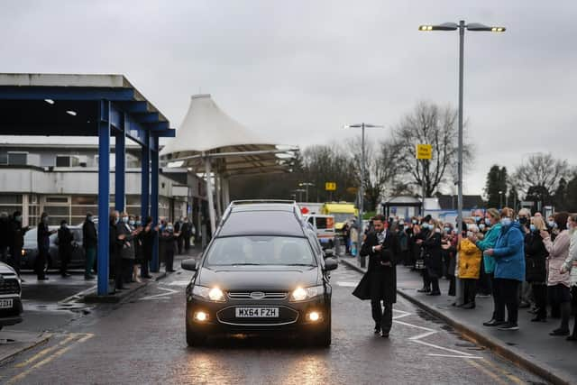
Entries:
<svg viewBox="0 0 577 385">
<path fill-rule="evenodd" d="M 69 262 L 74 249 L 78 247 L 74 234 L 66 220 L 60 222 L 58 229 L 50 229 L 50 216 L 42 213 L 37 229 L 37 253 L 34 260 L 34 271 L 38 280 L 48 280 L 46 271 L 51 267 L 50 236 L 57 234 L 54 243 L 58 245 L 60 274 L 63 278 L 70 276 Z M 82 224 L 82 247 L 85 256 L 85 280 L 94 280 L 97 269 L 96 253 L 98 234 L 95 218 L 87 213 Z M 0 213 L 0 261 L 8 263 L 20 274 L 21 258 L 24 245 L 24 234 L 31 226 L 23 226 L 20 211 L 12 215 Z M 180 217 L 173 225 L 161 218 L 155 225 L 151 216 L 142 218 L 126 212 L 114 211 L 109 217 L 109 271 L 116 289 L 124 289 L 124 284 L 151 279 L 150 263 L 154 240 L 159 238 L 160 261 L 164 262 L 167 272 L 174 271 L 174 255 L 188 252 L 191 239 L 195 234 L 194 225 L 187 217 Z"/>
</svg>

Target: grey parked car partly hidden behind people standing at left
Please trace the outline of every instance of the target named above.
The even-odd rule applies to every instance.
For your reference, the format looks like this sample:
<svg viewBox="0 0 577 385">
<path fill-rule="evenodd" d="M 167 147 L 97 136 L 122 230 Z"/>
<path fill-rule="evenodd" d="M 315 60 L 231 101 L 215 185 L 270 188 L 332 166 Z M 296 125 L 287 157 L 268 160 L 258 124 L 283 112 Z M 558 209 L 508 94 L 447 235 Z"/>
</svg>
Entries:
<svg viewBox="0 0 577 385">
<path fill-rule="evenodd" d="M 50 230 L 58 230 L 59 226 L 49 226 Z M 70 256 L 69 269 L 84 268 L 86 255 L 82 248 L 82 226 L 69 226 L 74 241 L 73 250 Z M 38 257 L 38 241 L 36 236 L 38 228 L 34 227 L 24 235 L 24 246 L 22 249 L 21 269 L 34 269 L 34 261 Z M 48 269 L 60 268 L 60 257 L 58 254 L 58 234 L 50 235 L 50 249 Z"/>
</svg>

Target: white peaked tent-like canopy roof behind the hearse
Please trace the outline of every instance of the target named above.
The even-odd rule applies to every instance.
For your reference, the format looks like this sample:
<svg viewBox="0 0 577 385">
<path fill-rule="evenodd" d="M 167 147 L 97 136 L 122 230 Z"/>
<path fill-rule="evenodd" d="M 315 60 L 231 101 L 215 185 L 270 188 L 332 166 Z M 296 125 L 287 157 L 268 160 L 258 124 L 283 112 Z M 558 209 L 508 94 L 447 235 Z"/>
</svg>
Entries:
<svg viewBox="0 0 577 385">
<path fill-rule="evenodd" d="M 279 146 L 226 115 L 210 95 L 191 96 L 188 113 L 176 137 L 160 151 L 169 166 L 204 169 L 213 159 L 220 174 L 288 172 L 298 148 Z"/>
</svg>

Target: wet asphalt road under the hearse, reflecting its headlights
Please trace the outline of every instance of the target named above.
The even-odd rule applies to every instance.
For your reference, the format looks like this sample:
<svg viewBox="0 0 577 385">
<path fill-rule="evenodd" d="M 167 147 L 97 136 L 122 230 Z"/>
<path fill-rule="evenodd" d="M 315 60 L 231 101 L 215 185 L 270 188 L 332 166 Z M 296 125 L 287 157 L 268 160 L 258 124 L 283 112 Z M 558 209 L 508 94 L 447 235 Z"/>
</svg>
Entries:
<svg viewBox="0 0 577 385">
<path fill-rule="evenodd" d="M 185 341 L 179 270 L 121 305 L 100 305 L 52 325 L 48 344 L 0 366 L 2 383 L 542 383 L 463 340 L 444 323 L 399 298 L 389 339 L 372 334 L 370 304 L 353 298 L 361 275 L 341 265 L 332 274 L 333 345 L 292 339 Z M 46 310 L 47 316 L 52 311 Z M 80 314 L 80 316 L 78 316 Z"/>
</svg>

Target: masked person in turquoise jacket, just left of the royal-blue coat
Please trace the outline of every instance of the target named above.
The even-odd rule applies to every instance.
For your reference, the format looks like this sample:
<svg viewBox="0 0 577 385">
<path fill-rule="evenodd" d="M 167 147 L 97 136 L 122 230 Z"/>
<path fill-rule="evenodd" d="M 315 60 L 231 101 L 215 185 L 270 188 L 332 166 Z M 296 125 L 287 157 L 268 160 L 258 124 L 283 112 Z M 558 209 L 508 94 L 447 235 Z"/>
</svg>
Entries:
<svg viewBox="0 0 577 385">
<path fill-rule="evenodd" d="M 485 225 L 489 226 L 490 229 L 487 231 L 487 233 L 485 233 L 485 237 L 482 240 L 480 240 L 474 234 L 469 237 L 471 242 L 475 243 L 475 246 L 477 246 L 477 248 L 483 252 L 483 269 L 489 277 L 487 285 L 490 287 L 490 293 L 493 297 L 493 314 L 490 318 L 490 321 L 483 323 L 485 326 L 499 326 L 505 323 L 504 311 L 499 311 L 499 313 L 497 312 L 498 309 L 500 309 L 500 293 L 499 286 L 495 282 L 495 259 L 492 257 L 492 255 L 484 253 L 486 250 L 495 247 L 495 243 L 497 243 L 497 239 L 501 233 L 499 216 L 499 210 L 496 208 L 488 209 L 485 213 Z"/>
</svg>

